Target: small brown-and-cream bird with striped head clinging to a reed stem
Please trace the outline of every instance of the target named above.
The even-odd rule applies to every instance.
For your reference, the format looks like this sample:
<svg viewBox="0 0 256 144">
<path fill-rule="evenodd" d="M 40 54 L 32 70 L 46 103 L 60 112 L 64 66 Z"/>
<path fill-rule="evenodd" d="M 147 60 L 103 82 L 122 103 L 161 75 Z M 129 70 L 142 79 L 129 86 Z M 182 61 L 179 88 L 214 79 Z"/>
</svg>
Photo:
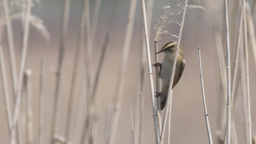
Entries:
<svg viewBox="0 0 256 144">
<path fill-rule="evenodd" d="M 160 104 L 161 104 L 161 110 L 164 109 L 166 105 L 166 99 L 167 99 L 167 94 L 168 94 L 168 89 L 169 89 L 169 84 L 170 84 L 170 77 L 172 73 L 172 68 L 173 68 L 173 62 L 174 62 L 174 56 L 175 56 L 175 50 L 177 47 L 177 41 L 170 41 L 167 42 L 158 53 L 164 53 L 164 58 L 162 63 L 155 63 L 155 67 L 160 67 L 159 70 L 159 77 L 162 79 L 162 90 L 161 92 L 156 92 L 156 97 L 160 96 Z M 152 65 L 152 66 L 153 66 Z M 174 80 L 173 80 L 173 86 L 178 83 L 185 67 L 185 60 L 184 60 L 184 55 L 183 55 L 183 50 L 181 44 L 179 45 L 179 53 L 177 57 L 177 62 L 176 62 L 176 67 L 175 67 L 175 74 L 174 74 Z"/>
</svg>

